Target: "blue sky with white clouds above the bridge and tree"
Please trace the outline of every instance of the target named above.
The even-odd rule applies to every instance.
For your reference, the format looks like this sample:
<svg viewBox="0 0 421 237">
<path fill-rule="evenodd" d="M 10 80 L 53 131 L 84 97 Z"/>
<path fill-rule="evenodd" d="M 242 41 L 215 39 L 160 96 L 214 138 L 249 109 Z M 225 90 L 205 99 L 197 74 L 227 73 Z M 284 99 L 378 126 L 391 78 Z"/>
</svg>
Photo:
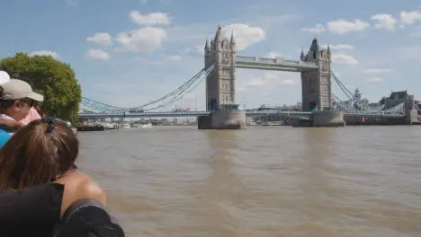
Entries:
<svg viewBox="0 0 421 237">
<path fill-rule="evenodd" d="M 317 36 L 331 45 L 334 71 L 351 90 L 377 101 L 408 89 L 421 99 L 418 0 L 3 0 L 0 15 L 0 57 L 51 54 L 74 67 L 85 97 L 121 107 L 154 100 L 195 75 L 218 22 L 234 30 L 237 55 L 298 59 Z M 299 74 L 237 72 L 237 102 L 248 108 L 300 101 Z M 197 93 L 203 109 L 204 83 Z M 195 101 L 193 91 L 183 106 Z"/>
</svg>

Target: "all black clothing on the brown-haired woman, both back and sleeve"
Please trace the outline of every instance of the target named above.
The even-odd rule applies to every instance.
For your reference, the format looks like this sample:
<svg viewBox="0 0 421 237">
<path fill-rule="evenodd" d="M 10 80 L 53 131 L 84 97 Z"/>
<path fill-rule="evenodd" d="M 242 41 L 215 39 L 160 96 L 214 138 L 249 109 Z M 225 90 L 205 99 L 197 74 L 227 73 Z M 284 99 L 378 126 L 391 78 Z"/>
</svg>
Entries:
<svg viewBox="0 0 421 237">
<path fill-rule="evenodd" d="M 94 200 L 76 201 L 60 220 L 63 192 L 57 183 L 0 191 L 0 236 L 124 237 L 117 220 Z"/>
</svg>

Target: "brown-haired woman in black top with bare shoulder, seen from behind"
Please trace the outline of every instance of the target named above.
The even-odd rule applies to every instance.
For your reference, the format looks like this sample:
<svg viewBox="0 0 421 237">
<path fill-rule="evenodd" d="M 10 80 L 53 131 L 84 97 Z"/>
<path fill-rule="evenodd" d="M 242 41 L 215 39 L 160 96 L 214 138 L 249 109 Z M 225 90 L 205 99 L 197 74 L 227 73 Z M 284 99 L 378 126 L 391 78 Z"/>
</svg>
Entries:
<svg viewBox="0 0 421 237">
<path fill-rule="evenodd" d="M 22 216 L 23 220 L 28 221 L 16 223 L 13 217 L 5 216 L 7 211 L 3 215 L 0 210 L 2 233 L 9 233 L 7 236 L 54 234 L 58 237 L 79 237 L 92 231 L 102 233 L 97 235 L 98 237 L 124 236 L 121 227 L 114 224 L 110 215 L 103 209 L 103 189 L 88 175 L 77 171 L 75 162 L 78 152 L 79 142 L 72 129 L 66 123 L 51 118 L 31 121 L 7 141 L 0 149 L 0 198 L 2 190 L 21 192 L 48 183 L 64 185 L 65 189 L 60 210 L 45 206 L 45 212 L 41 213 L 37 220 L 31 219 L 31 222 Z M 90 203 L 86 205 L 84 200 L 89 200 Z M 13 203 L 13 200 L 10 201 Z M 79 207 L 75 208 L 75 203 L 78 203 Z M 2 205 L 10 206 L 7 203 Z M 21 211 L 20 206 L 13 206 L 17 210 L 13 213 L 35 209 L 32 208 L 34 205 L 37 204 L 26 203 L 21 207 Z M 47 215 L 56 216 L 51 219 Z M 68 221 L 66 218 L 73 219 Z"/>
</svg>

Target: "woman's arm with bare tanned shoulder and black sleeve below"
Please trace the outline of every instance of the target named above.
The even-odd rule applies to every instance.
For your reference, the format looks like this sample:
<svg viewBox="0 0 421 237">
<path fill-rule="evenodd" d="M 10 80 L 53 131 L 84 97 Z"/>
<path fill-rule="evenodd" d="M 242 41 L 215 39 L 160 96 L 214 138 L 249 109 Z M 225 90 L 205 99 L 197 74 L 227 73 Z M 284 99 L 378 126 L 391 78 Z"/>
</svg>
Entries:
<svg viewBox="0 0 421 237">
<path fill-rule="evenodd" d="M 125 236 L 121 225 L 105 208 L 105 192 L 88 175 L 69 171 L 56 182 L 64 184 L 66 189 L 62 219 L 51 236 Z"/>
</svg>

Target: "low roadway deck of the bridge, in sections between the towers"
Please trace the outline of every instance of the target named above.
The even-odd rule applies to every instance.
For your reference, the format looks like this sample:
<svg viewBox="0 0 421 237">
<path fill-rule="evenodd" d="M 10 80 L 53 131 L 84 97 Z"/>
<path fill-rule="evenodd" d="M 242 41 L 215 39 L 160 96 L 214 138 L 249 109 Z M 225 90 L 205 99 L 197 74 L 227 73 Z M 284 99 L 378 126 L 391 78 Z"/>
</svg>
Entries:
<svg viewBox="0 0 421 237">
<path fill-rule="evenodd" d="M 79 118 L 181 118 L 181 117 L 197 117 L 201 115 L 208 115 L 210 112 L 207 111 L 190 111 L 190 112 L 144 112 L 144 113 L 121 113 L 121 112 L 109 112 L 109 113 L 79 113 Z M 259 116 L 259 115 L 284 115 L 290 117 L 309 117 L 311 112 L 300 112 L 300 111 L 257 111 L 248 110 L 246 111 L 247 116 Z M 403 118 L 403 115 L 396 114 L 384 114 L 384 113 L 344 113 L 345 117 L 366 117 L 366 118 Z"/>
</svg>

